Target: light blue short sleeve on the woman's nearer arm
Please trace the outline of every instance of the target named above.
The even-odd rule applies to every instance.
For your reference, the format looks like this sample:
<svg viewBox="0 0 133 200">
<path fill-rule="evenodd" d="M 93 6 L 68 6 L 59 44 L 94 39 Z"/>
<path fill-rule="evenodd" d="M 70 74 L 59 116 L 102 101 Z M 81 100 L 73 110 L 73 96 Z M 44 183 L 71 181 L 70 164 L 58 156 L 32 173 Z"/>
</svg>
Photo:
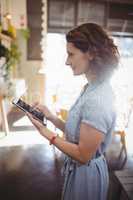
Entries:
<svg viewBox="0 0 133 200">
<path fill-rule="evenodd" d="M 96 128 L 97 130 L 107 134 L 113 123 L 113 112 L 105 103 L 100 103 L 93 99 L 86 101 L 81 111 L 81 122 Z"/>
</svg>

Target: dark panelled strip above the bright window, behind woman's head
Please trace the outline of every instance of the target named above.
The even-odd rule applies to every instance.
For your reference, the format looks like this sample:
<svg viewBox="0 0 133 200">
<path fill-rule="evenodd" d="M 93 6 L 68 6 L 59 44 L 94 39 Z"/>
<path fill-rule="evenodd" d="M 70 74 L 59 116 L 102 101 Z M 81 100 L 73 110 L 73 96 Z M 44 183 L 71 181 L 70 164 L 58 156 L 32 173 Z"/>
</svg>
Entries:
<svg viewBox="0 0 133 200">
<path fill-rule="evenodd" d="M 133 0 L 49 0 L 48 31 L 67 32 L 95 22 L 113 34 L 133 36 Z"/>
</svg>

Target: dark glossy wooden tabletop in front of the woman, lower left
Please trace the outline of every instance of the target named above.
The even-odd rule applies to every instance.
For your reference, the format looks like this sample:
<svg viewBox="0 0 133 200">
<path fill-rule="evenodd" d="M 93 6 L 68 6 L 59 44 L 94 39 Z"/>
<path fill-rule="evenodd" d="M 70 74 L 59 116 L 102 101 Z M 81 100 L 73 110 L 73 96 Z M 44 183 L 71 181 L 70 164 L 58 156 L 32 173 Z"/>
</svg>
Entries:
<svg viewBox="0 0 133 200">
<path fill-rule="evenodd" d="M 60 160 L 47 142 L 0 147 L 0 200 L 60 200 Z"/>
</svg>

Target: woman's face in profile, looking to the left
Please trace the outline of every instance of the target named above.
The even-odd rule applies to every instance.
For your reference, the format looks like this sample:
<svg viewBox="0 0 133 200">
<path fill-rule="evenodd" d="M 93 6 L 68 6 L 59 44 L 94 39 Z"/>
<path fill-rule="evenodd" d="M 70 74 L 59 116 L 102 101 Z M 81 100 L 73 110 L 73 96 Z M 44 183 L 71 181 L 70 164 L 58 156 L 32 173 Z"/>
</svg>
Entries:
<svg viewBox="0 0 133 200">
<path fill-rule="evenodd" d="M 83 53 L 76 48 L 73 43 L 67 43 L 67 60 L 66 65 L 70 65 L 74 75 L 87 74 L 89 70 L 89 61 L 92 57 L 88 52 Z"/>
</svg>

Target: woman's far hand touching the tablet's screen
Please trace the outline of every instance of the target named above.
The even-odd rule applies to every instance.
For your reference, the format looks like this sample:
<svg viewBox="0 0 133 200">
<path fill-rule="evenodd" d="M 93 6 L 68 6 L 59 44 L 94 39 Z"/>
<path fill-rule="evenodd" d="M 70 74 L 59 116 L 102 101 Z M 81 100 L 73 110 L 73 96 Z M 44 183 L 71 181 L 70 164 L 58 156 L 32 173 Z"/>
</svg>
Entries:
<svg viewBox="0 0 133 200">
<path fill-rule="evenodd" d="M 52 120 L 53 114 L 52 114 L 52 112 L 47 108 L 47 106 L 43 106 L 43 105 L 39 104 L 38 102 L 36 102 L 36 103 L 34 103 L 34 104 L 32 105 L 32 107 L 33 107 L 34 109 L 37 109 L 38 111 L 42 112 L 42 113 L 45 115 L 45 117 L 46 117 L 49 121 Z"/>
</svg>

